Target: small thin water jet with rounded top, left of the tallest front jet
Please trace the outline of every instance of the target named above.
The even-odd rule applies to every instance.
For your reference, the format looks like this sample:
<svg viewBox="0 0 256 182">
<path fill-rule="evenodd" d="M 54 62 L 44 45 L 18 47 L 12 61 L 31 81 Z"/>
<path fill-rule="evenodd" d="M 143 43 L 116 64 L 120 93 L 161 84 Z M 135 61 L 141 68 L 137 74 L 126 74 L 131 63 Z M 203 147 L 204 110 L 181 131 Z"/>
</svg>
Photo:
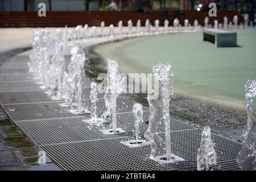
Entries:
<svg viewBox="0 0 256 182">
<path fill-rule="evenodd" d="M 134 104 L 133 105 L 133 114 L 134 114 L 134 118 L 135 118 L 135 140 L 136 143 L 138 143 L 138 139 L 139 139 L 139 125 L 142 123 L 143 121 L 143 110 L 142 110 L 142 105 L 141 104 Z"/>
</svg>

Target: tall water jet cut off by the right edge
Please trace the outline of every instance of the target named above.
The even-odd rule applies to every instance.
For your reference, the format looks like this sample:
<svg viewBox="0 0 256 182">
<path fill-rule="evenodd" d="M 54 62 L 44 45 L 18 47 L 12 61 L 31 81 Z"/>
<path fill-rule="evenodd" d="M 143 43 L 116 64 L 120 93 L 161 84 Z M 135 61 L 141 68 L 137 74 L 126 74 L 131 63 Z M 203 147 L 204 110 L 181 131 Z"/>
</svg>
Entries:
<svg viewBox="0 0 256 182">
<path fill-rule="evenodd" d="M 248 115 L 243 147 L 237 156 L 242 170 L 256 170 L 256 80 L 248 80 L 245 85 L 246 111 Z"/>
</svg>

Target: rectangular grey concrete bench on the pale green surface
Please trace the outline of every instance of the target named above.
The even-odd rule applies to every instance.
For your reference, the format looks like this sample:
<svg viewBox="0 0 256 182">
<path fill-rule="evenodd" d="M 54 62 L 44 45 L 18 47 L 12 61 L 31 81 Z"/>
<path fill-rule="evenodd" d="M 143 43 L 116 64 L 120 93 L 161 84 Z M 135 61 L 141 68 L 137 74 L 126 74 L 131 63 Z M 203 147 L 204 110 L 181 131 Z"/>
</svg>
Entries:
<svg viewBox="0 0 256 182">
<path fill-rule="evenodd" d="M 212 42 L 216 47 L 236 47 L 237 33 L 208 28 L 203 30 L 203 41 Z"/>
</svg>

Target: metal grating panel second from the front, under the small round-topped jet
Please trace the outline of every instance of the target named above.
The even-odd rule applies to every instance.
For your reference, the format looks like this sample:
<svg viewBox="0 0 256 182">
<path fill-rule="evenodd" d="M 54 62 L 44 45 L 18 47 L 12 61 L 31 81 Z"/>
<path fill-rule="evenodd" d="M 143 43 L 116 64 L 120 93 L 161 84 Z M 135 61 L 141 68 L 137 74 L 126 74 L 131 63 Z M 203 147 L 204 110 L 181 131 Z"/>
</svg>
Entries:
<svg viewBox="0 0 256 182">
<path fill-rule="evenodd" d="M 130 117 L 131 113 L 117 114 L 117 127 L 121 127 L 126 133 L 116 135 L 104 135 L 98 127 L 92 127 L 85 123 L 84 119 L 90 119 L 90 116 L 77 118 L 62 118 L 62 119 L 47 119 L 38 121 L 22 121 L 16 122 L 16 125 L 31 138 L 36 144 L 56 144 L 64 142 L 78 142 L 81 140 L 94 140 L 106 138 L 130 137 L 134 138 L 134 121 Z M 148 111 L 144 113 L 144 123 L 142 123 L 141 137 L 143 138 L 144 131 L 147 129 L 146 120 Z M 105 127 L 109 128 L 110 122 L 105 123 Z M 171 122 L 171 131 L 183 129 L 194 129 L 179 121 Z M 162 129 L 162 132 L 164 129 Z"/>
</svg>

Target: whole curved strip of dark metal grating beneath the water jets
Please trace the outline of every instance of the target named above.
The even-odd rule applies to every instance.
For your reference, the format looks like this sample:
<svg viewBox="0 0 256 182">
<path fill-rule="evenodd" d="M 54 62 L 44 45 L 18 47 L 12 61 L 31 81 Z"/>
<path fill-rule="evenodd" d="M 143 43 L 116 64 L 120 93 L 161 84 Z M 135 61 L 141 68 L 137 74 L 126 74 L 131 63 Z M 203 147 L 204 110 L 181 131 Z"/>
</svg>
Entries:
<svg viewBox="0 0 256 182">
<path fill-rule="evenodd" d="M 69 60 L 69 59 L 66 59 Z M 134 138 L 134 102 L 117 98 L 117 127 L 125 133 L 104 135 L 96 126 L 82 121 L 89 114 L 73 115 L 68 107 L 51 98 L 32 82 L 27 69 L 27 56 L 12 57 L 0 67 L 0 104 L 20 130 L 47 155 L 67 170 L 196 170 L 196 156 L 201 142 L 202 130 L 171 118 L 171 151 L 185 159 L 176 164 L 159 164 L 148 158 L 150 147 L 130 148 L 121 143 Z M 15 67 L 13 66 L 15 64 Z M 18 68 L 20 67 L 20 68 Z M 90 83 L 83 77 L 83 104 L 90 110 Z M 106 110 L 103 94 L 98 96 L 98 115 Z M 147 129 L 149 110 L 143 107 L 141 137 Z M 111 118 L 110 118 L 111 119 Z M 105 128 L 110 122 L 104 123 Z M 164 142 L 164 125 L 159 126 L 155 136 L 158 146 Z M 214 170 L 240 170 L 236 157 L 242 144 L 212 134 L 216 143 L 217 165 Z M 158 147 L 163 154 L 163 146 Z"/>
</svg>

